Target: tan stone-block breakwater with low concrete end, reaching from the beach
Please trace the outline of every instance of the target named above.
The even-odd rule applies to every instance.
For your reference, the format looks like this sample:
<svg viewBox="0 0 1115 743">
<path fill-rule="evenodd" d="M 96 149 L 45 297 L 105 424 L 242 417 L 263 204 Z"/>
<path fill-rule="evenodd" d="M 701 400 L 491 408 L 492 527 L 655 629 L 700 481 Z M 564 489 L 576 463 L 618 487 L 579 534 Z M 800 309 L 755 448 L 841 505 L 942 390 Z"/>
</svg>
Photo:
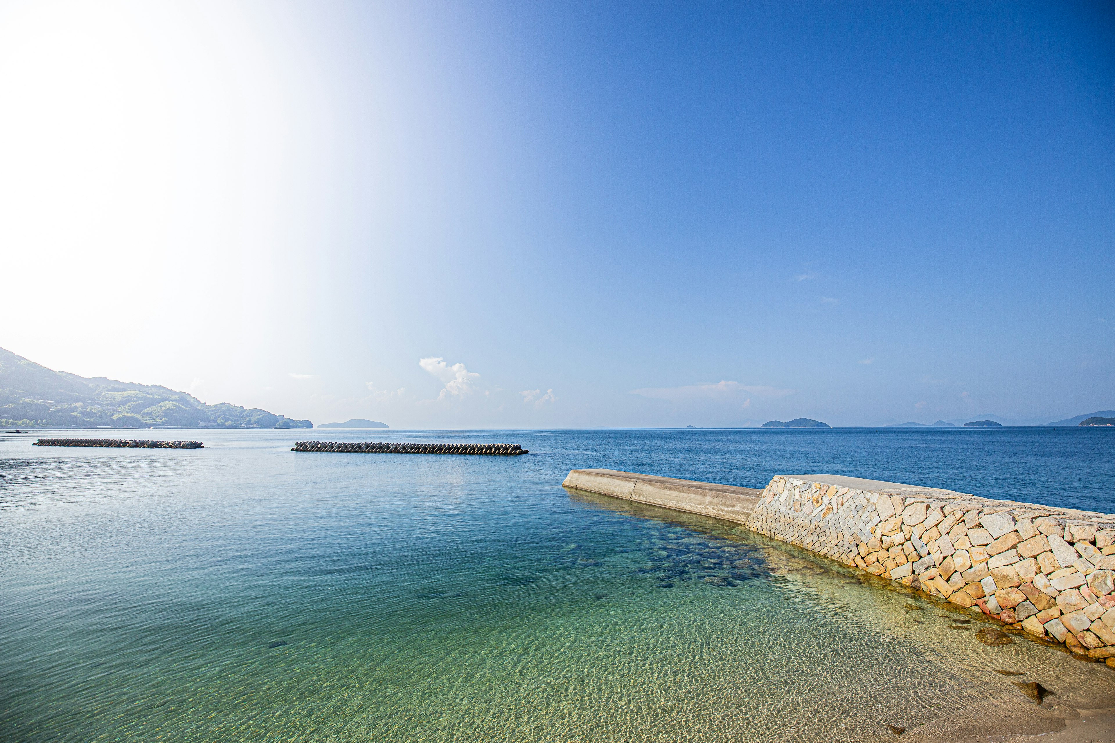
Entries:
<svg viewBox="0 0 1115 743">
<path fill-rule="evenodd" d="M 638 495 L 651 481 L 671 479 L 573 470 L 563 485 L 652 502 Z M 832 475 L 735 493 L 672 482 L 675 499 L 702 495 L 655 505 L 744 524 L 1115 667 L 1115 515 Z"/>
</svg>

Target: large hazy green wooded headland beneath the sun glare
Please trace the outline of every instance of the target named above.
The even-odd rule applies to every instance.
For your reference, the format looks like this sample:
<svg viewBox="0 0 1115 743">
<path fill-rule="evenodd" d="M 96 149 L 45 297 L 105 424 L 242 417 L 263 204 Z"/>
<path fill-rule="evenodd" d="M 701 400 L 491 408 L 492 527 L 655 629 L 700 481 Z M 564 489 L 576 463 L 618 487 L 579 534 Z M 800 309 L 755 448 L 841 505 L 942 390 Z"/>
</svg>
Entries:
<svg viewBox="0 0 1115 743">
<path fill-rule="evenodd" d="M 206 405 L 155 384 L 56 372 L 0 349 L 0 426 L 20 428 L 313 428 L 260 408 Z"/>
</svg>

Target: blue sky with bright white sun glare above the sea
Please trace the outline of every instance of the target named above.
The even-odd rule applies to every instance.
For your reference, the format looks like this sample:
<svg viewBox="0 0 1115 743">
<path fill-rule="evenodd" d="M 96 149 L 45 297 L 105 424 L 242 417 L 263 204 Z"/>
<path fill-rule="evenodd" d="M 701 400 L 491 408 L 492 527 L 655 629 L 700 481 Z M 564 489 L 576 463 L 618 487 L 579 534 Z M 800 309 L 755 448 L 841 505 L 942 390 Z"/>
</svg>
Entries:
<svg viewBox="0 0 1115 743">
<path fill-rule="evenodd" d="M 0 8 L 0 345 L 52 368 L 395 427 L 1115 408 L 1109 4 Z"/>
</svg>

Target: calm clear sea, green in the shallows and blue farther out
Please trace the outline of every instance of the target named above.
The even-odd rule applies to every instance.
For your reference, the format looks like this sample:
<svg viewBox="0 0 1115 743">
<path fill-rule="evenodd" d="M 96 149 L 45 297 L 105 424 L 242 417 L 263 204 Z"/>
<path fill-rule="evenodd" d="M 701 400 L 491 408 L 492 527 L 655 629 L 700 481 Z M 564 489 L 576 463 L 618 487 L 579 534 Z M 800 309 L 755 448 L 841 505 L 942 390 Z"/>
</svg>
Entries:
<svg viewBox="0 0 1115 743">
<path fill-rule="evenodd" d="M 1115 511 L 1107 431 L 147 433 L 206 448 L 0 438 L 0 740 L 873 741 L 1115 704 L 1105 666 L 560 487 L 572 467 L 836 472 Z"/>
</svg>

